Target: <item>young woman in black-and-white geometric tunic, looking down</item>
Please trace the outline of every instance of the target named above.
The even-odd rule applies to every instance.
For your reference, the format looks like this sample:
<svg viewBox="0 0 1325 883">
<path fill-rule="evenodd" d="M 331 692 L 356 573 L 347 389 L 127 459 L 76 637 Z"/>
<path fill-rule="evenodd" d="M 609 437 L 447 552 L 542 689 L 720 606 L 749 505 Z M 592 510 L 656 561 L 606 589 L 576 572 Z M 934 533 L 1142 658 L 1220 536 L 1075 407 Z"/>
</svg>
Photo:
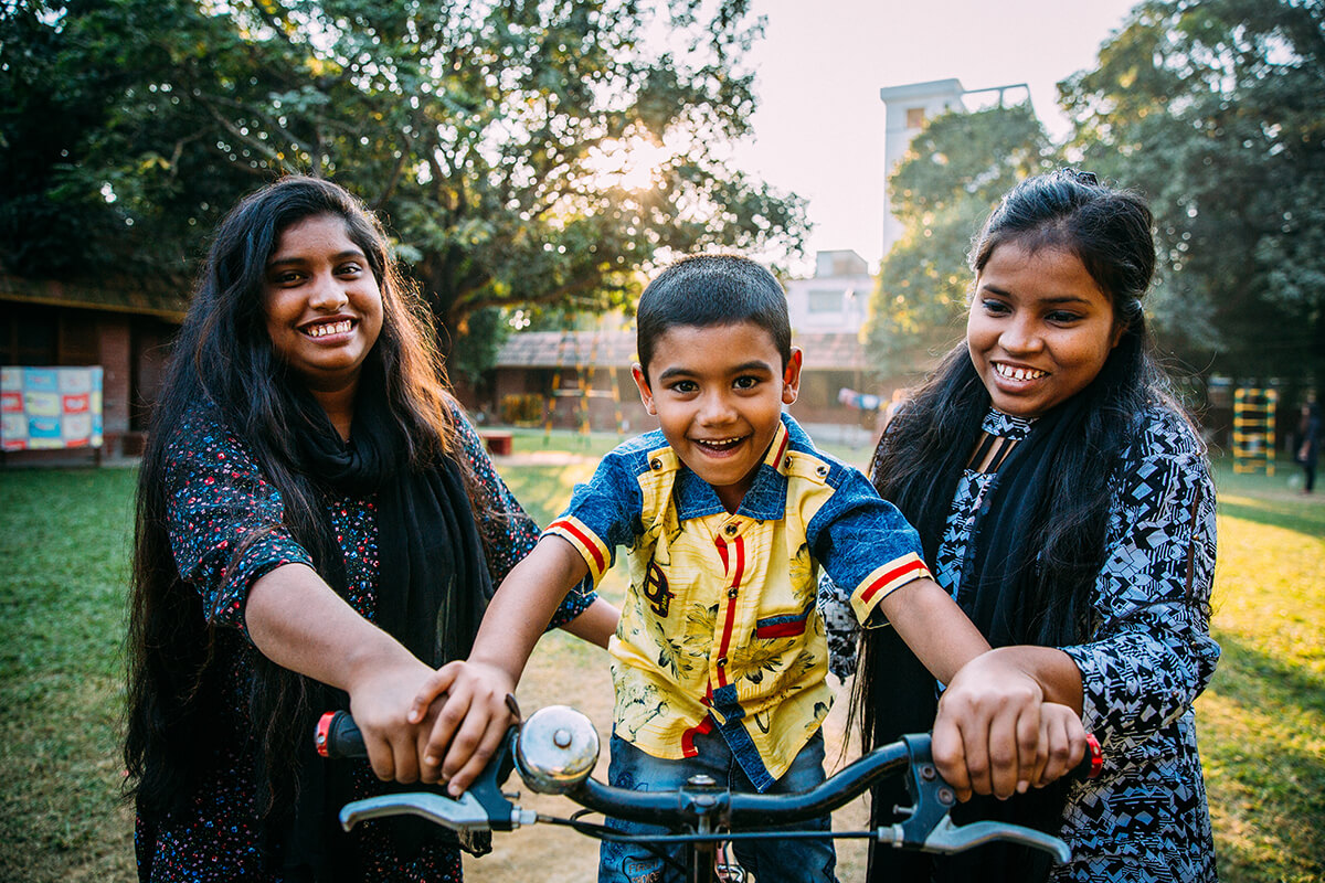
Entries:
<svg viewBox="0 0 1325 883">
<path fill-rule="evenodd" d="M 928 729 L 937 707 L 1032 673 L 1100 737 L 1102 776 L 977 796 L 954 815 L 1061 835 L 1072 862 L 1051 870 L 1007 846 L 935 860 L 876 850 L 871 880 L 1215 878 L 1192 716 L 1219 657 L 1208 633 L 1214 486 L 1151 355 L 1150 226 L 1138 196 L 1089 173 L 1061 169 L 1011 191 L 973 249 L 966 340 L 889 424 L 872 469 L 994 650 L 945 690 L 896 635 L 867 631 L 855 696 L 865 744 Z M 984 760 L 970 753 L 986 735 L 946 718 L 935 756 L 965 744 L 971 776 L 954 785 L 987 794 Z M 897 804 L 876 794 L 874 823 Z"/>
</svg>

